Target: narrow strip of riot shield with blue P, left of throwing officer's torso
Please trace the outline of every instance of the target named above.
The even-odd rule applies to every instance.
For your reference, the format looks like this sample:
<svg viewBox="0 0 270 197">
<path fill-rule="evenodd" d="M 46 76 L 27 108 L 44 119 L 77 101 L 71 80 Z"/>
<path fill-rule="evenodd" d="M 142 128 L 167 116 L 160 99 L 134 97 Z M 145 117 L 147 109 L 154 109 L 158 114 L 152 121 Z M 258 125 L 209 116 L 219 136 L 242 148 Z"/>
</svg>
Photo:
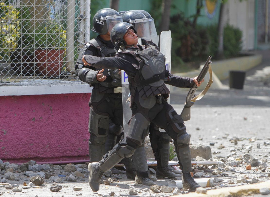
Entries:
<svg viewBox="0 0 270 197">
<path fill-rule="evenodd" d="M 131 118 L 132 112 L 129 108 L 129 81 L 127 80 L 127 73 L 121 70 L 121 83 L 122 83 L 122 103 L 123 103 L 123 124 L 124 124 L 124 137 L 129 130 L 129 125 L 127 124 Z"/>
</svg>

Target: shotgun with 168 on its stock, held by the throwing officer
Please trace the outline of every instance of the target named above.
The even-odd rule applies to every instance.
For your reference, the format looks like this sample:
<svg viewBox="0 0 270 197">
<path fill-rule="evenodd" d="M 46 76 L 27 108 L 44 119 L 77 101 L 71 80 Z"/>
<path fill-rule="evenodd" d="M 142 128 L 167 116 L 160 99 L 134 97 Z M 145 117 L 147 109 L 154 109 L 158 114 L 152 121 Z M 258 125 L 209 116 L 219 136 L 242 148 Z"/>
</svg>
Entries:
<svg viewBox="0 0 270 197">
<path fill-rule="evenodd" d="M 204 79 L 206 73 L 208 72 L 209 69 L 209 64 L 211 64 L 211 57 L 209 56 L 207 61 L 204 64 L 203 69 L 201 70 L 200 74 L 197 77 L 197 81 L 200 82 Z M 187 97 L 186 97 L 186 102 L 185 106 L 181 112 L 181 117 L 184 121 L 190 120 L 190 107 L 193 106 L 194 102 L 191 101 L 191 99 L 195 96 L 195 92 L 197 90 L 197 85 L 194 83 L 193 86 L 190 88 Z"/>
</svg>

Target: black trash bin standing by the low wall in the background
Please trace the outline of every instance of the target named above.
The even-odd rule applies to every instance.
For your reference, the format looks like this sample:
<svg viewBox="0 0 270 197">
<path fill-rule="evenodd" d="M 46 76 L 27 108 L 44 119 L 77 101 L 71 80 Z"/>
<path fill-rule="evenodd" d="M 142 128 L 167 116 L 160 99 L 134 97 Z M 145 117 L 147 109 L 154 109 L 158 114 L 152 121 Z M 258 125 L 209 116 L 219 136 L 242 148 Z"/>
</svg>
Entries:
<svg viewBox="0 0 270 197">
<path fill-rule="evenodd" d="M 230 88 L 243 89 L 246 72 L 230 70 Z"/>
</svg>

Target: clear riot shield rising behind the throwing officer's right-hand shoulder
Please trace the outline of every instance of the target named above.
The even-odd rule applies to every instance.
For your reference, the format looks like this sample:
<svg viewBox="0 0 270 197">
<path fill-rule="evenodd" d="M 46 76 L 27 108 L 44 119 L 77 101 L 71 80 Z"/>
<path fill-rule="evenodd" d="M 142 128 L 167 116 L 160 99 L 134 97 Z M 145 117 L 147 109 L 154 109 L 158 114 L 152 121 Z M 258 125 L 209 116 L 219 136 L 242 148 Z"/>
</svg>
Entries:
<svg viewBox="0 0 270 197">
<path fill-rule="evenodd" d="M 166 70 L 171 72 L 171 31 L 163 31 L 160 34 L 160 52 L 165 56 Z M 166 84 L 170 90 L 170 85 Z M 168 98 L 170 103 L 170 97 Z M 165 132 L 163 129 L 159 129 L 160 132 Z"/>
</svg>

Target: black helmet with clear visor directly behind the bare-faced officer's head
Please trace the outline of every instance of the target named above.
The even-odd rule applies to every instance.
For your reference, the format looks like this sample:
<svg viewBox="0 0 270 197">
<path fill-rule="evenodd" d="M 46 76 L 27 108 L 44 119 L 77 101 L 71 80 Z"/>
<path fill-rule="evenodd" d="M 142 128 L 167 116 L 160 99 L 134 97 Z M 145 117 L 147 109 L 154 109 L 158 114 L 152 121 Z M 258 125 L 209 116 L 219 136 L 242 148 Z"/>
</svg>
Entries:
<svg viewBox="0 0 270 197">
<path fill-rule="evenodd" d="M 125 12 L 123 15 L 123 22 L 130 23 L 137 31 L 137 36 L 144 40 L 150 41 L 150 29 L 149 19 L 144 16 L 143 13 L 137 10 L 130 10 Z"/>
</svg>

